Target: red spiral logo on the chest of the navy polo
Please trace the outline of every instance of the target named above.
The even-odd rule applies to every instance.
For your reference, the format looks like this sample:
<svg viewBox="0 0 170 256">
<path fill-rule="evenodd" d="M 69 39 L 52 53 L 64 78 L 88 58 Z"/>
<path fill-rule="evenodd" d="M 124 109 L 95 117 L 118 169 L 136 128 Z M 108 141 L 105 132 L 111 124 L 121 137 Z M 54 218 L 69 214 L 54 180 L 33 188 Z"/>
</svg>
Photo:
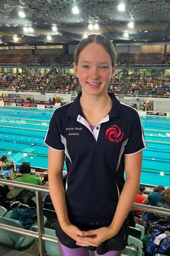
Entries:
<svg viewBox="0 0 170 256">
<path fill-rule="evenodd" d="M 110 128 L 106 130 L 106 138 L 111 142 L 122 141 L 123 132 L 117 125 L 111 125 Z"/>
</svg>

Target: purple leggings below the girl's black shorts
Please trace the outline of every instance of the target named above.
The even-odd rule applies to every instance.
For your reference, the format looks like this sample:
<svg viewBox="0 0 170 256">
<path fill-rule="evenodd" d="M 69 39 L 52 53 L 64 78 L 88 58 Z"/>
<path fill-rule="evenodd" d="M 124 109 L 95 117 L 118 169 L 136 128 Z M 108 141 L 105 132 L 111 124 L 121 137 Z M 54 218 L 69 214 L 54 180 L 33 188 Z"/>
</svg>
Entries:
<svg viewBox="0 0 170 256">
<path fill-rule="evenodd" d="M 61 244 L 60 242 L 60 248 L 61 248 L 62 256 L 88 256 L 89 255 L 89 250 L 84 247 L 71 249 Z M 102 255 L 103 256 L 120 256 L 120 254 L 121 254 L 121 251 L 109 251 L 109 252 L 106 252 L 106 254 L 102 254 Z M 97 254 L 96 251 L 94 252 L 94 255 L 101 256 Z"/>
</svg>

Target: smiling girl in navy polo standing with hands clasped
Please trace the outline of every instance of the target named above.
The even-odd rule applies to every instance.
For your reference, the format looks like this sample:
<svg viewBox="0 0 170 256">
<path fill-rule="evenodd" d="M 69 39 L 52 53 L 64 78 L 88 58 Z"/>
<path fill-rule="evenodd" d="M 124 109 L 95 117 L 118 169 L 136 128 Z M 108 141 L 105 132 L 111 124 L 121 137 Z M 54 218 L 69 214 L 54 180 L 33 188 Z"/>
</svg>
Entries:
<svg viewBox="0 0 170 256">
<path fill-rule="evenodd" d="M 138 113 L 107 93 L 116 58 L 110 41 L 89 35 L 74 57 L 82 92 L 56 109 L 45 137 L 56 234 L 63 256 L 117 256 L 127 244 L 145 139 Z"/>
</svg>

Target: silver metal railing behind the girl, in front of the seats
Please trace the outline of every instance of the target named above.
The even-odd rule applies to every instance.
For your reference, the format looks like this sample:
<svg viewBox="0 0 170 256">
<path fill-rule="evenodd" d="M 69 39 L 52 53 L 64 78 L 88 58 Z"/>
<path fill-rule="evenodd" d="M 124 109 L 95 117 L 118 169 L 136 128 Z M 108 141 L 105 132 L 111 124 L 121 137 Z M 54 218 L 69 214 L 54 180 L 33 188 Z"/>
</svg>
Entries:
<svg viewBox="0 0 170 256">
<path fill-rule="evenodd" d="M 49 193 L 49 189 L 44 186 L 38 186 L 38 185 L 36 186 L 36 185 L 28 184 L 28 183 L 20 183 L 20 182 L 14 182 L 12 180 L 3 180 L 3 179 L 0 179 L 0 184 L 5 185 L 5 186 L 20 187 L 22 189 L 35 190 L 36 204 L 37 204 L 38 232 L 21 229 L 21 228 L 14 228 L 12 226 L 4 225 L 1 223 L 0 223 L 0 229 L 16 232 L 16 233 L 22 234 L 22 235 L 31 236 L 33 238 L 38 238 L 40 256 L 45 256 L 46 255 L 45 254 L 45 241 L 58 243 L 57 238 L 54 238 L 53 236 L 44 234 L 44 221 L 43 221 L 44 215 L 43 215 L 43 206 L 42 206 L 42 192 Z M 170 217 L 170 209 L 165 209 L 165 208 L 160 208 L 160 207 L 155 207 L 155 206 L 148 206 L 148 205 L 141 205 L 140 203 L 133 203 L 133 209 L 142 210 L 145 212 L 156 213 L 159 215 L 166 215 L 166 216 Z"/>
</svg>

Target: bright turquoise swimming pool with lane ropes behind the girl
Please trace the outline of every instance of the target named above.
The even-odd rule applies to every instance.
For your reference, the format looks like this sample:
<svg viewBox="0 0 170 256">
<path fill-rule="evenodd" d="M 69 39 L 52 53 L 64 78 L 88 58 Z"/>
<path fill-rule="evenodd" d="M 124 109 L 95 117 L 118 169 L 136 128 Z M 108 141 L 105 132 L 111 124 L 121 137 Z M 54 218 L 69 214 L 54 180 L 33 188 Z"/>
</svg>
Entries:
<svg viewBox="0 0 170 256">
<path fill-rule="evenodd" d="M 47 168 L 44 137 L 54 109 L 0 108 L 0 155 L 21 164 Z M 143 151 L 141 183 L 169 186 L 170 118 L 140 117 L 148 148 Z"/>
</svg>

